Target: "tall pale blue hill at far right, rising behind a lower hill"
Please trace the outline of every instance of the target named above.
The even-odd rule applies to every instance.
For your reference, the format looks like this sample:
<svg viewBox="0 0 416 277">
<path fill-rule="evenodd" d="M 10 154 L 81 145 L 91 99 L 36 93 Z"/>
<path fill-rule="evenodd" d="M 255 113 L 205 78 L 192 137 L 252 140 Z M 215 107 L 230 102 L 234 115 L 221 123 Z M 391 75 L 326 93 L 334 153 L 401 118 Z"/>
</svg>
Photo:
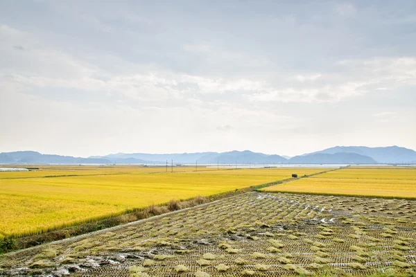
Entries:
<svg viewBox="0 0 416 277">
<path fill-rule="evenodd" d="M 379 163 L 416 163 L 416 152 L 408 148 L 398 146 L 388 146 L 381 148 L 369 148 L 365 146 L 336 146 L 311 154 L 335 154 L 335 153 L 355 153 L 368 156 Z"/>
</svg>

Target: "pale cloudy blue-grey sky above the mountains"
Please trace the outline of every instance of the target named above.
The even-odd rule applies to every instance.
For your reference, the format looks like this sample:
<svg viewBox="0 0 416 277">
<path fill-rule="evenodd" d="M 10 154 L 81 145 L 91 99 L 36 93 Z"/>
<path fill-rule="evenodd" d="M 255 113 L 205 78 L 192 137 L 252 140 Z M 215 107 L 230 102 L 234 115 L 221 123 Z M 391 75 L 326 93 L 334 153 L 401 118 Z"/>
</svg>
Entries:
<svg viewBox="0 0 416 277">
<path fill-rule="evenodd" d="M 0 1 L 0 152 L 416 150 L 416 1 Z"/>
</svg>

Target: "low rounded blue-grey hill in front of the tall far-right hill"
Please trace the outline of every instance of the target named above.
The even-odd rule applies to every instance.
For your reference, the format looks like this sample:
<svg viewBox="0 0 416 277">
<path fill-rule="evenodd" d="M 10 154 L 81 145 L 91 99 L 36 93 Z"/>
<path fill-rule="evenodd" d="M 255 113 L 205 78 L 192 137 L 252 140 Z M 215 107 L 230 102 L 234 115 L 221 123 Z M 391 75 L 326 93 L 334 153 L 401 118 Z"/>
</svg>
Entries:
<svg viewBox="0 0 416 277">
<path fill-rule="evenodd" d="M 289 159 L 290 163 L 377 163 L 374 159 L 355 153 L 315 153 L 296 156 Z"/>
</svg>

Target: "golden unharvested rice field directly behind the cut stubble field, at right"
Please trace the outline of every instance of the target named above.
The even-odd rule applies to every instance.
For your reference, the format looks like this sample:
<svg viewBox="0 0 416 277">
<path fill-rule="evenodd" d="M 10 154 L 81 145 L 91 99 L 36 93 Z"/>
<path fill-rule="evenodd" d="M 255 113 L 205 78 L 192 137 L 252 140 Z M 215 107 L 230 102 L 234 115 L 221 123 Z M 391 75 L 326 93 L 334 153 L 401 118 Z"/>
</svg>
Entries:
<svg viewBox="0 0 416 277">
<path fill-rule="evenodd" d="M 411 199 L 416 198 L 416 168 L 343 168 L 263 190 Z"/>
</svg>

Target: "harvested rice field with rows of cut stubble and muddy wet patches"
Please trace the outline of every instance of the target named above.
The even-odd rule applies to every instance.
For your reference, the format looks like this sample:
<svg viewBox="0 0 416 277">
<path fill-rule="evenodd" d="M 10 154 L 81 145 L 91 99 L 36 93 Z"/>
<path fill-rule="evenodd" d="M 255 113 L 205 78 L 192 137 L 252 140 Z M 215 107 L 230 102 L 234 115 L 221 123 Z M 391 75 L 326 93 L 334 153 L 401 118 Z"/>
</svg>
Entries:
<svg viewBox="0 0 416 277">
<path fill-rule="evenodd" d="M 410 276 L 416 201 L 245 193 L 0 256 L 0 276 Z"/>
</svg>

